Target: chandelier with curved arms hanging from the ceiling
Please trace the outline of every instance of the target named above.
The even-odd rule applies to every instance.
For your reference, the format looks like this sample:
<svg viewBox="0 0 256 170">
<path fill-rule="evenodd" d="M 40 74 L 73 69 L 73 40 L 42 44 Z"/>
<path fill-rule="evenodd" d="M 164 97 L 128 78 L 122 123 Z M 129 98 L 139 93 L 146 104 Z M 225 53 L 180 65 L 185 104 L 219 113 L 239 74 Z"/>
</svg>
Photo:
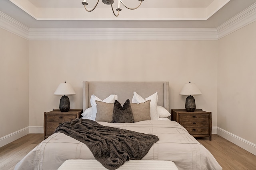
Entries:
<svg viewBox="0 0 256 170">
<path fill-rule="evenodd" d="M 115 14 L 114 9 L 113 9 L 113 6 L 112 6 L 112 4 L 114 3 L 114 0 L 102 0 L 102 2 L 103 2 L 104 4 L 106 4 L 106 5 L 111 5 L 113 14 L 114 14 L 116 17 L 119 16 L 119 12 L 122 11 L 122 9 L 120 8 L 120 2 L 121 2 L 121 4 L 123 4 L 123 6 L 124 6 L 125 8 L 127 8 L 127 9 L 129 9 L 129 10 L 135 10 L 135 9 L 137 9 L 137 8 L 140 7 L 140 4 L 141 4 L 142 1 L 144 1 L 144 0 L 139 0 L 139 1 L 140 1 L 140 3 L 139 3 L 139 5 L 138 5 L 136 8 L 129 8 L 129 7 L 127 7 L 127 6 L 122 2 L 122 0 L 118 0 L 118 8 L 116 8 L 117 14 Z M 82 4 L 84 5 L 84 9 L 85 9 L 86 11 L 88 11 L 88 12 L 92 12 L 92 11 L 96 8 L 96 6 L 98 5 L 98 3 L 99 3 L 99 0 L 98 0 L 98 2 L 96 3 L 96 5 L 95 5 L 91 10 L 88 10 L 88 9 L 86 9 L 86 5 L 88 5 L 88 2 L 86 2 L 86 0 L 84 0 L 84 1 L 82 2 Z"/>
</svg>

